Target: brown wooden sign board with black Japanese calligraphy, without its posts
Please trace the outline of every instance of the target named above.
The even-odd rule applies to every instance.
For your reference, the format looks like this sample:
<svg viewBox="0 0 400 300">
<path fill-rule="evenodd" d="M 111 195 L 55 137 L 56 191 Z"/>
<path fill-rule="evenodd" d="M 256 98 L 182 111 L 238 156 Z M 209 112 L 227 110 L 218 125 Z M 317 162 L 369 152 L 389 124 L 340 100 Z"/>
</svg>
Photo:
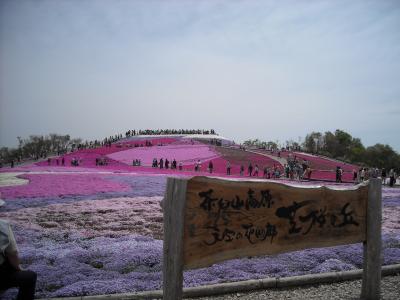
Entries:
<svg viewBox="0 0 400 300">
<path fill-rule="evenodd" d="M 187 184 L 184 265 L 365 240 L 368 188 L 345 191 L 195 177 Z"/>
</svg>

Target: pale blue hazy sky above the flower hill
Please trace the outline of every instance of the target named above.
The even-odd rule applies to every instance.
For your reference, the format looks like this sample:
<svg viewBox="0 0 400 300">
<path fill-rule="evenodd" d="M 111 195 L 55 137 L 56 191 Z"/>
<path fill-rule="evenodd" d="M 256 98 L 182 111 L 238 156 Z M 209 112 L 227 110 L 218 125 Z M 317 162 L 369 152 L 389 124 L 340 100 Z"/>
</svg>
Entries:
<svg viewBox="0 0 400 300">
<path fill-rule="evenodd" d="M 400 1 L 0 1 L 0 146 L 348 131 L 400 150 Z"/>
</svg>

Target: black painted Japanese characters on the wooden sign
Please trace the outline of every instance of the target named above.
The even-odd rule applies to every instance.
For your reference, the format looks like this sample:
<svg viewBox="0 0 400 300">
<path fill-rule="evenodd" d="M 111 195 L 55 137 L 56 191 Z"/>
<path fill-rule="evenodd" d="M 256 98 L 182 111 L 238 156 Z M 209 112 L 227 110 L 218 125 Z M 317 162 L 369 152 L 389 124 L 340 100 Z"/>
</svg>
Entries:
<svg viewBox="0 0 400 300">
<path fill-rule="evenodd" d="M 203 242 L 215 245 L 219 242 L 231 243 L 235 240 L 247 240 L 250 244 L 269 241 L 273 243 L 278 231 L 289 236 L 309 234 L 314 228 L 339 228 L 344 226 L 359 226 L 355 220 L 354 211 L 346 203 L 337 211 L 329 211 L 326 206 L 319 207 L 317 200 L 293 201 L 288 206 L 280 206 L 270 213 L 254 214 L 257 209 L 266 212 L 279 203 L 274 199 L 270 190 L 259 192 L 249 188 L 247 195 L 241 198 L 235 195 L 231 199 L 224 199 L 214 195 L 213 189 L 198 193 L 201 202 L 200 208 L 207 213 L 207 222 L 202 228 L 207 229 L 209 238 Z M 279 198 L 280 199 L 280 198 Z M 321 205 L 320 205 L 321 206 Z M 282 228 L 282 221 L 286 219 L 289 227 Z M 277 224 L 281 224 L 278 228 Z M 195 235 L 194 225 L 190 227 L 191 236 Z"/>
</svg>

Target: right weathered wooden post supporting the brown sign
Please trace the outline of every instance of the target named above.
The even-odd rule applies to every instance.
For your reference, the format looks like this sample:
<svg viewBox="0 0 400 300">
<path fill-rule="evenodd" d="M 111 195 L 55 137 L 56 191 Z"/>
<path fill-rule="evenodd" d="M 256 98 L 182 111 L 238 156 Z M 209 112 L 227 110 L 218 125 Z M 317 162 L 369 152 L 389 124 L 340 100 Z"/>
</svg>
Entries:
<svg viewBox="0 0 400 300">
<path fill-rule="evenodd" d="M 364 266 L 361 298 L 380 299 L 382 268 L 382 183 L 370 179 L 367 208 L 367 236 L 364 242 Z"/>
</svg>

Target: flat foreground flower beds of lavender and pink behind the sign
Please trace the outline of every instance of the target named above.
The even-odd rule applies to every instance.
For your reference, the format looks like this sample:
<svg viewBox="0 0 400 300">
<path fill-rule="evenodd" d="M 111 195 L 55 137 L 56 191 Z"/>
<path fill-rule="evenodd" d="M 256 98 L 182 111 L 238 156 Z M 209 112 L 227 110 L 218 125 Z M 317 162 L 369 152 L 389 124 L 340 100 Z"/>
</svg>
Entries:
<svg viewBox="0 0 400 300">
<path fill-rule="evenodd" d="M 14 228 L 23 266 L 38 273 L 37 297 L 160 289 L 165 175 L 64 169 L 72 170 L 26 173 L 18 178 L 28 184 L 0 186 L 6 201 L 0 218 Z M 383 263 L 400 263 L 400 190 L 384 188 L 383 204 Z M 308 249 L 189 270 L 184 286 L 350 270 L 361 264 L 361 244 Z M 15 290 L 3 296 L 13 295 Z"/>
</svg>

